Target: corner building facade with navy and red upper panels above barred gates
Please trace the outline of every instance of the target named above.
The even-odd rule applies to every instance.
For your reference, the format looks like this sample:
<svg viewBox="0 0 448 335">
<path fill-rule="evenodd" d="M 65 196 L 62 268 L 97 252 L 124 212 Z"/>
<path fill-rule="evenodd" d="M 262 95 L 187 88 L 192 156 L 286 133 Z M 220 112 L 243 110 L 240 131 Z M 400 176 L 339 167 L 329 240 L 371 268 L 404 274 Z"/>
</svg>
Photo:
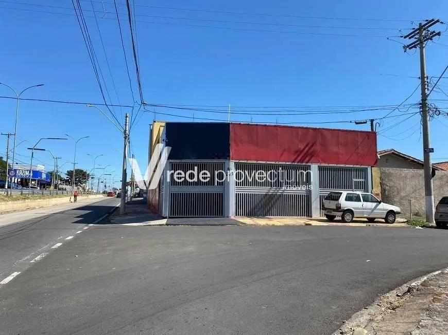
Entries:
<svg viewBox="0 0 448 335">
<path fill-rule="evenodd" d="M 374 132 L 344 129 L 154 122 L 150 138 L 169 151 L 147 191 L 165 217 L 318 217 L 333 190 L 370 192 L 377 160 Z"/>
</svg>

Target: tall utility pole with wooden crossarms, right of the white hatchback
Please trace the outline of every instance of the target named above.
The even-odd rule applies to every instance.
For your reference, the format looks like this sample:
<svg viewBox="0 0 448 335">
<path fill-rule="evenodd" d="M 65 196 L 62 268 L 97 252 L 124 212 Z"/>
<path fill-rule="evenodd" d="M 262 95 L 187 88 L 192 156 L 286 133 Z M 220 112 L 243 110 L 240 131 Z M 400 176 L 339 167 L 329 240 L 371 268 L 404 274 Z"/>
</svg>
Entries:
<svg viewBox="0 0 448 335">
<path fill-rule="evenodd" d="M 428 116 L 428 100 L 426 92 L 426 64 L 425 64 L 425 43 L 433 40 L 436 36 L 440 36 L 440 31 L 431 31 L 430 27 L 440 23 L 440 20 L 427 20 L 425 23 L 420 23 L 419 27 L 412 30 L 407 35 L 402 36 L 404 39 L 416 39 L 412 43 L 403 46 L 404 51 L 419 48 L 420 49 L 420 80 L 421 80 L 421 95 L 422 95 L 422 136 L 423 136 L 423 164 L 424 164 L 424 178 L 425 178 L 425 209 L 426 221 L 434 224 L 434 194 L 433 194 L 433 179 L 432 179 L 432 163 L 429 141 L 429 116 Z"/>
</svg>

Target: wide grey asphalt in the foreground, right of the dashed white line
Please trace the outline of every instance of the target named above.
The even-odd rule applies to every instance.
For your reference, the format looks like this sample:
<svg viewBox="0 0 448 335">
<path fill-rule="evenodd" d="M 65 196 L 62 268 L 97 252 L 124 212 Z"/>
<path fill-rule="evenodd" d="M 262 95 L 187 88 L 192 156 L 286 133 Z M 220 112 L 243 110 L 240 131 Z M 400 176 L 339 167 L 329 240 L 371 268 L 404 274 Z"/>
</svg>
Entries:
<svg viewBox="0 0 448 335">
<path fill-rule="evenodd" d="M 1 334 L 328 334 L 448 230 L 95 226 L 0 287 Z"/>
</svg>

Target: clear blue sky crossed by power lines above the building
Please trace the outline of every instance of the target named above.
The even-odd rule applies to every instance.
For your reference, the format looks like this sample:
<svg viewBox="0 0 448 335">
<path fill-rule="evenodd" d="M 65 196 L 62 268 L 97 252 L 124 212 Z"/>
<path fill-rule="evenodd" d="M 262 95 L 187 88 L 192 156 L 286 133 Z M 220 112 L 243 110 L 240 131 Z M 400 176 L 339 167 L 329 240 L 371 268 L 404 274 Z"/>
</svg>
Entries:
<svg viewBox="0 0 448 335">
<path fill-rule="evenodd" d="M 118 12 L 125 13 L 124 3 L 124 0 L 117 0 Z M 139 102 L 127 16 L 119 17 L 134 98 L 129 88 L 113 0 L 83 0 L 81 4 L 112 103 L 133 105 L 134 101 Z M 417 88 L 420 69 L 418 53 L 413 54 L 412 50 L 403 52 L 399 43 L 401 39 L 396 37 L 401 34 L 398 29 L 407 32 L 412 21 L 448 13 L 448 3 L 442 0 L 423 7 L 416 0 L 409 0 L 406 6 L 402 2 L 386 0 L 369 3 L 134 0 L 134 5 L 145 102 L 222 106 L 215 108 L 224 111 L 219 114 L 155 107 L 156 119 L 191 121 L 188 117 L 194 117 L 198 122 L 201 118 L 227 121 L 225 106 L 231 104 L 232 111 L 248 113 L 232 114 L 232 121 L 297 122 L 303 125 L 313 125 L 307 122 L 381 118 L 391 109 L 315 115 L 279 112 L 277 116 L 252 115 L 252 118 L 249 114 L 259 113 L 255 110 L 263 114 L 266 110 L 288 109 L 300 114 L 311 107 L 316 107 L 312 110 L 318 112 L 353 109 L 341 106 L 400 104 Z M 445 31 L 446 27 L 438 25 L 435 28 Z M 30 89 L 22 98 L 102 103 L 71 1 L 21 0 L 15 4 L 1 1 L 0 28 L 3 31 L 0 36 L 3 46 L 0 82 L 17 90 L 45 84 Z M 437 78 L 448 65 L 447 34 L 445 32 L 435 43 L 427 45 L 427 73 L 430 77 Z M 388 40 L 386 36 L 391 37 Z M 448 78 L 448 73 L 445 77 Z M 439 88 L 448 94 L 448 79 L 442 79 Z M 13 95 L 3 86 L 0 87 L 0 96 Z M 448 96 L 434 91 L 431 98 L 441 100 L 432 102 L 444 108 L 446 115 Z M 406 103 L 417 103 L 419 99 L 420 90 L 417 89 Z M 244 106 L 252 107 L 242 108 Z M 264 108 L 269 106 L 278 108 Z M 104 106 L 99 107 L 106 111 Z M 411 107 L 406 111 L 407 107 L 390 114 L 398 117 L 382 120 L 378 128 L 378 149 L 394 147 L 421 158 L 419 116 L 408 115 L 416 109 Z M 0 110 L 0 131 L 13 132 L 14 100 L 0 98 Z M 131 108 L 114 109 L 122 123 L 126 112 L 130 113 Z M 141 113 L 132 127 L 132 152 L 141 165 L 147 162 L 148 128 L 153 117 L 153 113 Z M 90 170 L 93 159 L 87 154 L 103 154 L 97 159 L 97 165 L 111 164 L 108 172 L 120 179 L 122 137 L 96 109 L 82 104 L 21 101 L 18 124 L 17 143 L 22 140 L 35 143 L 41 137 L 64 137 L 64 134 L 90 136 L 78 144 L 78 166 Z M 369 128 L 368 125 L 353 123 L 320 126 Z M 441 115 L 431 122 L 431 141 L 435 148 L 433 160 L 448 160 L 443 136 L 447 127 L 446 116 Z M 29 163 L 28 144 L 25 142 L 17 147 L 16 161 Z M 40 146 L 61 156 L 62 163 L 73 161 L 73 141 L 47 141 Z M 2 137 L 0 155 L 5 151 L 6 138 Z M 38 162 L 45 162 L 50 167 L 48 170 L 52 169 L 53 160 L 48 153 L 37 153 L 36 158 Z M 67 165 L 64 165 L 64 170 Z"/>
</svg>

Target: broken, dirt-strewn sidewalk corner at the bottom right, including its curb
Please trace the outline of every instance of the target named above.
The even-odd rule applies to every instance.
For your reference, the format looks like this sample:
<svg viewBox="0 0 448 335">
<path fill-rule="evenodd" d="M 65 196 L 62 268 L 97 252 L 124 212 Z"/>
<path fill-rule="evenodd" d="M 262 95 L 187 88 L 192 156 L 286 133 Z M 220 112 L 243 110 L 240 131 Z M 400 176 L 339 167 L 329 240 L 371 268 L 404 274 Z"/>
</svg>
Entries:
<svg viewBox="0 0 448 335">
<path fill-rule="evenodd" d="M 448 269 L 385 294 L 335 334 L 448 334 Z"/>
</svg>

